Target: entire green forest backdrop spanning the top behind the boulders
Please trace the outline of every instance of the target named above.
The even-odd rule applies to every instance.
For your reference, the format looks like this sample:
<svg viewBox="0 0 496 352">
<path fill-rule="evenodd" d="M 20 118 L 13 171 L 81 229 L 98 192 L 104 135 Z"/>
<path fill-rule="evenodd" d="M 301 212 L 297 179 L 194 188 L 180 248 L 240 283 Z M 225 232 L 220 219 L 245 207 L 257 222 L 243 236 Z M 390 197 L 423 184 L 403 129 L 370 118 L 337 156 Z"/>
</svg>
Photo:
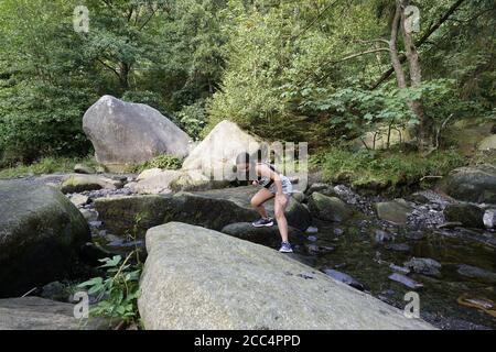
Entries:
<svg viewBox="0 0 496 352">
<path fill-rule="evenodd" d="M 0 167 L 91 153 L 82 118 L 106 94 L 159 109 L 196 140 L 228 119 L 312 151 L 418 129 L 419 100 L 430 148 L 446 150 L 450 124 L 496 119 L 496 4 L 401 3 L 421 24 L 422 79 L 406 87 L 391 69 L 392 0 L 1 0 Z M 88 33 L 74 31 L 79 4 Z M 409 77 L 405 36 L 395 42 Z"/>
</svg>

